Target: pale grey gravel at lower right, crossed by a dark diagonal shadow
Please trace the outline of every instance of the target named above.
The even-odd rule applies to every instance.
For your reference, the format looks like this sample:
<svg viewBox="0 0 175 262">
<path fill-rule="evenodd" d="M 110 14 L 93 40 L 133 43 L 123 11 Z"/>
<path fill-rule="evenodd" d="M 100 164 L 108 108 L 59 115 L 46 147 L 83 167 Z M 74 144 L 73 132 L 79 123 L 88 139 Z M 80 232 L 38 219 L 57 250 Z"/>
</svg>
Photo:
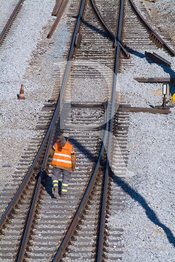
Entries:
<svg viewBox="0 0 175 262">
<path fill-rule="evenodd" d="M 124 229 L 123 261 L 174 261 L 174 113 L 130 114 L 125 209 L 109 220 Z"/>
</svg>

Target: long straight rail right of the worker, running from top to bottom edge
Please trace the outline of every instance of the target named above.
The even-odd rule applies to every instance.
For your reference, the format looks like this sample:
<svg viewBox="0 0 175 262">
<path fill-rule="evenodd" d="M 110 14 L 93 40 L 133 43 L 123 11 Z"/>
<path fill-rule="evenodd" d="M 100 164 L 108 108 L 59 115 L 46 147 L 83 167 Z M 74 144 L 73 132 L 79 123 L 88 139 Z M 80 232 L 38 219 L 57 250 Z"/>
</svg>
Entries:
<svg viewBox="0 0 175 262">
<path fill-rule="evenodd" d="M 107 148 L 107 160 L 106 160 L 106 170 L 105 170 L 105 181 L 104 181 L 104 189 L 102 196 L 102 207 L 101 207 L 101 221 L 99 227 L 99 241 L 98 241 L 98 252 L 97 252 L 97 262 L 103 261 L 103 247 L 104 247 L 104 230 L 105 230 L 105 216 L 106 216 L 106 206 L 107 206 L 107 189 L 109 183 L 109 159 L 110 159 L 110 150 L 111 150 L 111 140 L 112 140 L 112 132 L 113 132 L 113 115 L 115 110 L 115 94 L 116 94 L 116 84 L 117 84 L 117 72 L 118 72 L 118 57 L 120 51 L 120 37 L 121 37 L 121 25 L 123 18 L 123 0 L 120 2 L 120 17 L 119 17 L 119 25 L 118 25 L 118 35 L 117 35 L 117 50 L 116 50 L 116 59 L 115 59 L 115 71 L 113 78 L 113 91 L 112 91 L 112 101 L 110 103 L 111 112 L 109 112 L 109 137 L 108 137 L 108 148 Z"/>
</svg>

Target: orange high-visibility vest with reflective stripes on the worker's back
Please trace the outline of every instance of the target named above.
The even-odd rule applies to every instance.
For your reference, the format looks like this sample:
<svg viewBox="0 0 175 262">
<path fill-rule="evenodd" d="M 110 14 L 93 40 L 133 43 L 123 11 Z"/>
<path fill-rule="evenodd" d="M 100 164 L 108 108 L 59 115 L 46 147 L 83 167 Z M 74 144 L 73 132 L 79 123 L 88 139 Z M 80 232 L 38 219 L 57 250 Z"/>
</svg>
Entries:
<svg viewBox="0 0 175 262">
<path fill-rule="evenodd" d="M 66 142 L 64 147 L 60 147 L 60 143 L 57 142 L 55 146 L 55 153 L 52 159 L 52 165 L 72 167 L 71 150 L 72 145 L 70 145 L 68 142 Z"/>
</svg>

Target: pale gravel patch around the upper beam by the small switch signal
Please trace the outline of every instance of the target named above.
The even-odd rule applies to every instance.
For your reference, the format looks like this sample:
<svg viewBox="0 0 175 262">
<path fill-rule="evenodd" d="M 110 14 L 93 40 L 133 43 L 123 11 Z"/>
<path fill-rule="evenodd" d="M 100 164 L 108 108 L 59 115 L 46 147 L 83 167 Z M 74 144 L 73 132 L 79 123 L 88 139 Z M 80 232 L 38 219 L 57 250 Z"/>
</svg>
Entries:
<svg viewBox="0 0 175 262">
<path fill-rule="evenodd" d="M 152 59 L 145 55 L 145 51 L 137 50 L 131 55 L 132 62 L 135 64 L 131 68 L 125 68 L 118 74 L 120 90 L 125 100 L 131 106 L 148 107 L 150 105 L 162 104 L 162 84 L 138 83 L 134 78 L 137 77 L 175 77 L 175 57 L 171 57 L 163 49 L 149 50 L 155 52 L 172 63 L 171 67 L 156 64 Z M 168 85 L 169 88 L 169 85 Z M 160 92 L 157 92 L 160 91 Z M 167 97 L 170 98 L 169 92 Z"/>
</svg>

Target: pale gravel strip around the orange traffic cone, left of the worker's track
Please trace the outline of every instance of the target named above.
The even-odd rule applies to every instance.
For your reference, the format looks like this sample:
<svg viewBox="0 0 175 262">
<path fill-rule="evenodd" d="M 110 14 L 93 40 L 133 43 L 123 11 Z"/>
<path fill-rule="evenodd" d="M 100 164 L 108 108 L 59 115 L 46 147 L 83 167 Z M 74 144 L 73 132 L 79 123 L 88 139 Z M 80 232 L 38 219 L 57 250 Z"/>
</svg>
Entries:
<svg viewBox="0 0 175 262">
<path fill-rule="evenodd" d="M 0 191 L 37 134 L 35 127 L 43 103 L 51 98 L 55 85 L 54 70 L 65 59 L 63 54 L 70 37 L 66 25 L 70 3 L 52 39 L 46 39 L 55 19 L 51 16 L 54 4 L 54 0 L 24 1 L 14 34 L 2 50 Z M 17 100 L 21 84 L 24 84 L 25 100 Z"/>
</svg>

